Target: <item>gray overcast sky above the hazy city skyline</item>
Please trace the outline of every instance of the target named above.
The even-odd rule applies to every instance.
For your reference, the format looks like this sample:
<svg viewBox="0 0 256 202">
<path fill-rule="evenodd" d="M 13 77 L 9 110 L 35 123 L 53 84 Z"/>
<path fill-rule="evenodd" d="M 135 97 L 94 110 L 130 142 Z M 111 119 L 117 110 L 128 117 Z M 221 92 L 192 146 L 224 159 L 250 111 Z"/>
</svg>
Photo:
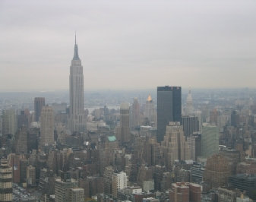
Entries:
<svg viewBox="0 0 256 202">
<path fill-rule="evenodd" d="M 256 87 L 255 0 L 0 1 L 0 91 Z"/>
</svg>

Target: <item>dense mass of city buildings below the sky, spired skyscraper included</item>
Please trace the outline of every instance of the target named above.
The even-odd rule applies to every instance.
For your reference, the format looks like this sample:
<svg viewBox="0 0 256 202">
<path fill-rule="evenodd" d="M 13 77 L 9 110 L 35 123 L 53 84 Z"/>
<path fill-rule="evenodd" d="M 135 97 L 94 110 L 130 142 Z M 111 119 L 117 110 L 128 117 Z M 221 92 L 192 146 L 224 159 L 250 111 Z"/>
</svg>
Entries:
<svg viewBox="0 0 256 202">
<path fill-rule="evenodd" d="M 69 103 L 0 99 L 0 201 L 256 200 L 254 91 L 165 86 L 88 109 L 76 42 L 69 84 Z"/>
</svg>

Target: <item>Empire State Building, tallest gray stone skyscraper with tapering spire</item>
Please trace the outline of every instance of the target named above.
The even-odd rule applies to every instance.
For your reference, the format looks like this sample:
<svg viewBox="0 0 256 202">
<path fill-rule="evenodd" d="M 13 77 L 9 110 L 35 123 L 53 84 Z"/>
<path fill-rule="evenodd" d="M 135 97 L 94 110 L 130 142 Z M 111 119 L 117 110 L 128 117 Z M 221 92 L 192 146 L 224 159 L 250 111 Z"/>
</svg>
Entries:
<svg viewBox="0 0 256 202">
<path fill-rule="evenodd" d="M 86 131 L 86 117 L 84 115 L 84 74 L 81 59 L 78 56 L 76 36 L 74 43 L 74 57 L 71 61 L 69 74 L 69 98 L 71 133 L 84 132 Z"/>
</svg>

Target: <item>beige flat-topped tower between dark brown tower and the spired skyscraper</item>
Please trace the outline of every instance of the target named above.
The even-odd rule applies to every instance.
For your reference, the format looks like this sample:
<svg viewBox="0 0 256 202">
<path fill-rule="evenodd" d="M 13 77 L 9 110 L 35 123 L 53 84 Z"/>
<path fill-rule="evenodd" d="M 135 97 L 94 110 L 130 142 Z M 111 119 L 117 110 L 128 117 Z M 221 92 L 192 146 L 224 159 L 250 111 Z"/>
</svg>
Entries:
<svg viewBox="0 0 256 202">
<path fill-rule="evenodd" d="M 54 117 L 51 106 L 43 106 L 41 112 L 40 147 L 54 144 Z"/>
</svg>

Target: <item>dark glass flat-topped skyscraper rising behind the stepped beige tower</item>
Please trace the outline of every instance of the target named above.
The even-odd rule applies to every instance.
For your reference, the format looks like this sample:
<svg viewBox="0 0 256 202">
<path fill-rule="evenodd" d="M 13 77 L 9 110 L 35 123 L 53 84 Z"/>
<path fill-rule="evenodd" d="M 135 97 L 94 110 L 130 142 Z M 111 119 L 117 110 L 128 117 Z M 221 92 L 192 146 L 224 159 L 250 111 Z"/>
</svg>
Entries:
<svg viewBox="0 0 256 202">
<path fill-rule="evenodd" d="M 182 121 L 182 87 L 157 87 L 157 141 L 163 140 L 169 122 Z"/>
</svg>

